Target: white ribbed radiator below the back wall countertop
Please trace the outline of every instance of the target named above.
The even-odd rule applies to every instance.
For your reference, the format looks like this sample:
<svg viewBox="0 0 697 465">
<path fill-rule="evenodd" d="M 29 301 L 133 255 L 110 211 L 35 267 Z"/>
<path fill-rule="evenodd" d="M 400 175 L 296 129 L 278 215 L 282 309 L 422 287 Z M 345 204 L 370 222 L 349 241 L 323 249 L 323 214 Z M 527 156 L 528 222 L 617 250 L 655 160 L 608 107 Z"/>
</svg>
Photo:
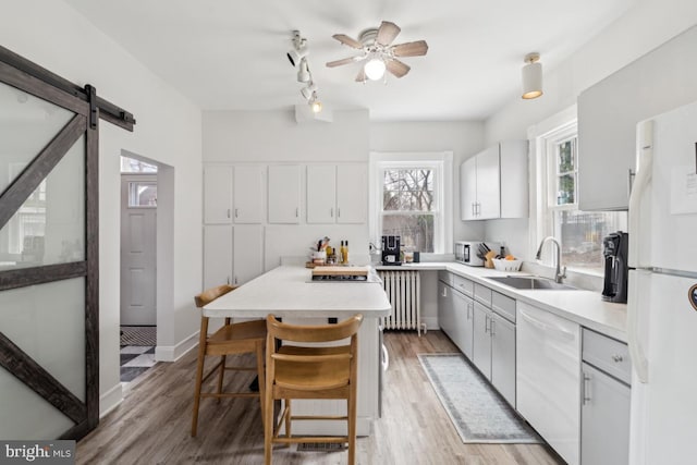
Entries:
<svg viewBox="0 0 697 465">
<path fill-rule="evenodd" d="M 420 313 L 420 278 L 418 271 L 379 270 L 384 292 L 392 304 L 392 313 L 382 317 L 382 329 L 415 329 L 421 335 L 426 325 L 421 326 Z"/>
</svg>

